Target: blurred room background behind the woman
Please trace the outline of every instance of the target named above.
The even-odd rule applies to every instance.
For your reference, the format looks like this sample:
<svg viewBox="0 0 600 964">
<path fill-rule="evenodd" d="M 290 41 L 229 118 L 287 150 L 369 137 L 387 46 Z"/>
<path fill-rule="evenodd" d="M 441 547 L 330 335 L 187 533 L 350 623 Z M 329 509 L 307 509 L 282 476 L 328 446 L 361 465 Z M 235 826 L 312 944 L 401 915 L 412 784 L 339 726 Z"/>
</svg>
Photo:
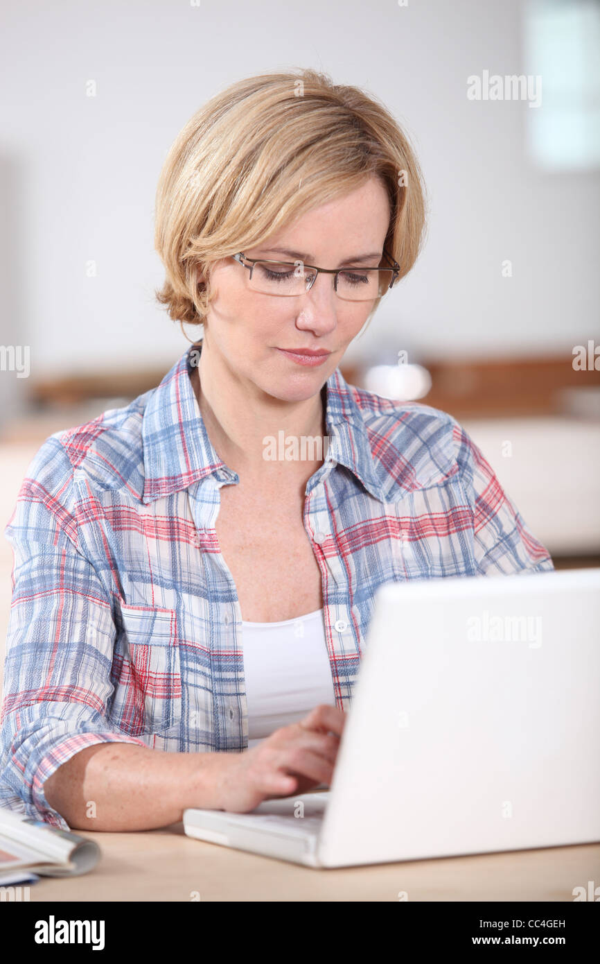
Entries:
<svg viewBox="0 0 600 964">
<path fill-rule="evenodd" d="M 2 4 L 0 522 L 48 435 L 158 385 L 153 205 L 212 94 L 315 67 L 376 94 L 427 243 L 342 365 L 455 415 L 557 567 L 600 565 L 598 0 Z M 186 326 L 191 338 L 194 326 Z M 0 638 L 12 550 L 0 538 Z"/>
</svg>

